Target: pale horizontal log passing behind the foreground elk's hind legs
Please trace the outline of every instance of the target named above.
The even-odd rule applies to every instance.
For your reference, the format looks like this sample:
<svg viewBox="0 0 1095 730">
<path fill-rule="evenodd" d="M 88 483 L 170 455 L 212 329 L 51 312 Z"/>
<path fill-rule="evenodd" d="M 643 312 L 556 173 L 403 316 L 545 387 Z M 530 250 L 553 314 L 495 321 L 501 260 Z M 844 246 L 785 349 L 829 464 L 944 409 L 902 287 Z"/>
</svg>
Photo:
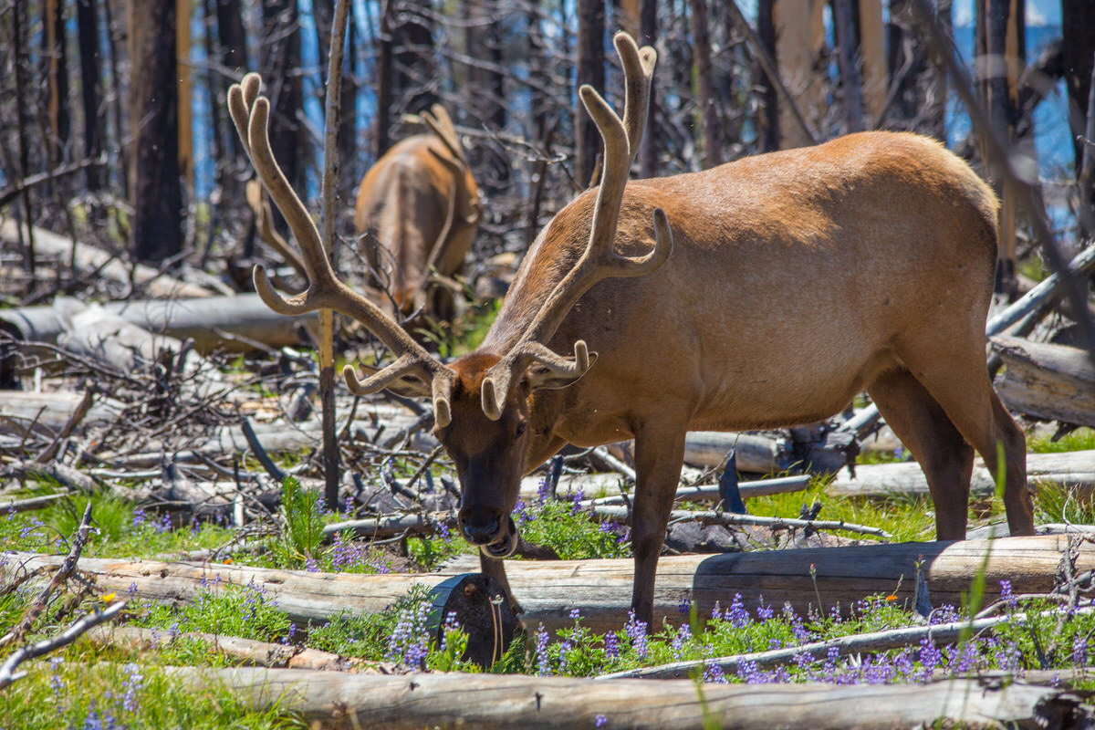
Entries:
<svg viewBox="0 0 1095 730">
<path fill-rule="evenodd" d="M 1095 487 L 1095 450 L 1067 451 L 1048 454 L 1027 454 L 1027 483 L 1037 489 L 1039 484 L 1062 484 L 1073 488 Z M 973 467 L 971 490 L 991 493 L 995 482 L 978 459 Z M 826 487 L 832 496 L 886 497 L 892 494 L 927 495 L 927 480 L 917 462 L 899 464 L 871 464 L 855 467 L 855 478 L 841 470 Z"/>
</svg>

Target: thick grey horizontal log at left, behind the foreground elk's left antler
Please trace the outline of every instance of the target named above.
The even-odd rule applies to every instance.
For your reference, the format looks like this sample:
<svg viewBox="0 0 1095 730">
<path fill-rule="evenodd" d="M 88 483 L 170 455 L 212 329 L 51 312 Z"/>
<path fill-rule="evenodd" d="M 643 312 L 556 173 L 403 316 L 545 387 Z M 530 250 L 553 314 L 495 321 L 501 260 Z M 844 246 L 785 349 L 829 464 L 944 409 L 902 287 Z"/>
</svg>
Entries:
<svg viewBox="0 0 1095 730">
<path fill-rule="evenodd" d="M 314 312 L 296 316 L 278 314 L 254 293 L 108 302 L 103 304 L 103 309 L 150 332 L 180 339 L 189 337 L 199 352 L 218 347 L 249 351 L 254 349 L 253 343 L 291 347 L 300 344 L 298 327 L 314 329 L 319 326 L 319 315 Z M 56 343 L 58 335 L 65 332 L 64 308 L 48 305 L 0 310 L 0 331 L 7 331 L 23 343 Z"/>
</svg>

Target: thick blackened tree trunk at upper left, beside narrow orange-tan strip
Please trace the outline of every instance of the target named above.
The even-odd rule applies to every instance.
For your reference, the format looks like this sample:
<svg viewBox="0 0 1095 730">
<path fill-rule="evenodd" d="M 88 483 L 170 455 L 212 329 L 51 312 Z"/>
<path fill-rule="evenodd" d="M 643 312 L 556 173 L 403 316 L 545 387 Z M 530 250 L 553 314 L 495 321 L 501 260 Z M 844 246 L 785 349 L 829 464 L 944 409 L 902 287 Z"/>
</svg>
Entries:
<svg viewBox="0 0 1095 730">
<path fill-rule="evenodd" d="M 128 20 L 131 245 L 138 260 L 157 263 L 183 247 L 175 0 L 129 0 Z"/>
</svg>

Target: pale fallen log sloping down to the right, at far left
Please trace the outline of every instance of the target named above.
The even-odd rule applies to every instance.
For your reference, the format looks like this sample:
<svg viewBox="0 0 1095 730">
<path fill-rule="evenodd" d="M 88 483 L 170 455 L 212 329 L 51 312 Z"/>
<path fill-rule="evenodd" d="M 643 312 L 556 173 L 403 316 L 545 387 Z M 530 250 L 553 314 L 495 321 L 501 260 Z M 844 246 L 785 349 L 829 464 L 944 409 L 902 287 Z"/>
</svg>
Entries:
<svg viewBox="0 0 1095 730">
<path fill-rule="evenodd" d="M 9 242 L 19 241 L 19 224 L 12 220 L 0 223 L 0 237 Z M 79 271 L 95 271 L 95 276 L 111 279 L 119 283 L 128 285 L 130 280 L 145 287 L 154 297 L 211 297 L 212 292 L 205 287 L 199 287 L 186 281 L 161 274 L 150 266 L 143 264 L 126 264 L 117 256 L 90 246 L 85 243 L 72 241 L 69 237 L 58 235 L 53 231 L 43 228 L 34 229 L 34 247 L 43 255 L 55 256 L 76 262 L 77 274 Z M 73 248 L 76 250 L 73 253 Z"/>
</svg>

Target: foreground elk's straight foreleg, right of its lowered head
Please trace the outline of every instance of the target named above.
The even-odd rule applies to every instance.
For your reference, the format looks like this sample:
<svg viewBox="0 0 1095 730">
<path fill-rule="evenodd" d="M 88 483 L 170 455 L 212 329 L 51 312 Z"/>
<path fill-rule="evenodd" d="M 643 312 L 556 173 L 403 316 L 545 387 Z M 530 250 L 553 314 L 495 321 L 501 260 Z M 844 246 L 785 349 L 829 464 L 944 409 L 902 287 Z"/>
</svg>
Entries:
<svg viewBox="0 0 1095 730">
<path fill-rule="evenodd" d="M 647 421 L 635 429 L 635 500 L 631 517 L 631 544 L 635 555 L 635 583 L 631 605 L 635 616 L 657 630 L 654 621 L 654 577 L 666 538 L 684 461 L 685 427 L 668 428 Z"/>
</svg>

